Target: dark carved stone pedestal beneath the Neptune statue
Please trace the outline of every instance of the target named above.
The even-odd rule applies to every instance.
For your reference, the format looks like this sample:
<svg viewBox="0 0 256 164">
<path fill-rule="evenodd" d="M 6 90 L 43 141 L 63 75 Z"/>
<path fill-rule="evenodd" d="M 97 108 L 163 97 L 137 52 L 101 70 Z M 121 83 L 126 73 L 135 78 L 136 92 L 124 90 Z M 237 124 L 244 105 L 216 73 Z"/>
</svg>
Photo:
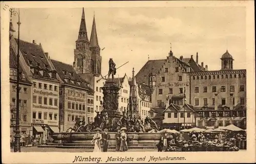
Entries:
<svg viewBox="0 0 256 164">
<path fill-rule="evenodd" d="M 106 81 L 101 88 L 103 91 L 103 111 L 101 115 L 108 116 L 105 128 L 113 128 L 122 117 L 122 113 L 118 111 L 119 90 L 122 87 L 114 81 Z"/>
</svg>

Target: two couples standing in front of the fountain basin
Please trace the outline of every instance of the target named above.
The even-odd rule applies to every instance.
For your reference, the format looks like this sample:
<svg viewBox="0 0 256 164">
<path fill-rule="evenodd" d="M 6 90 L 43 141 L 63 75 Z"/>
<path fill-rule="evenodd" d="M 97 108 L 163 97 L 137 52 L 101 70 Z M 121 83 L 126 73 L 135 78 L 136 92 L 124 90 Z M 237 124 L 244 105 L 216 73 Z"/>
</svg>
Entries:
<svg viewBox="0 0 256 164">
<path fill-rule="evenodd" d="M 103 152 L 108 151 L 109 147 L 109 140 L 110 134 L 108 129 L 104 129 L 103 133 L 100 133 L 102 130 L 100 128 L 94 129 L 96 134 L 93 136 L 92 144 L 94 143 L 94 150 L 93 152 L 101 152 L 101 141 L 102 141 L 102 148 Z M 122 131 L 122 132 L 121 132 Z M 127 151 L 127 134 L 125 133 L 125 128 L 118 129 L 117 133 L 115 134 L 116 139 L 116 151 Z"/>
</svg>

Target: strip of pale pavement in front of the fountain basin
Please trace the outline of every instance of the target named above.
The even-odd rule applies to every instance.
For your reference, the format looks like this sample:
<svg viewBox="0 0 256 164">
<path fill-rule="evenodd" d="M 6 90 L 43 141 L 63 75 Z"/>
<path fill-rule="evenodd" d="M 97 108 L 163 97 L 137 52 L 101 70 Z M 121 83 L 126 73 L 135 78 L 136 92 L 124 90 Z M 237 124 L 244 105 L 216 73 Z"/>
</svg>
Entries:
<svg viewBox="0 0 256 164">
<path fill-rule="evenodd" d="M 36 146 L 33 147 L 23 147 L 21 148 L 22 152 L 93 152 L 93 149 L 63 149 L 63 148 L 38 148 Z M 110 149 L 109 152 L 115 152 L 115 150 Z M 150 152 L 150 151 L 156 151 L 157 149 L 128 149 L 130 152 Z M 13 152 L 13 149 L 11 149 L 11 152 Z"/>
</svg>

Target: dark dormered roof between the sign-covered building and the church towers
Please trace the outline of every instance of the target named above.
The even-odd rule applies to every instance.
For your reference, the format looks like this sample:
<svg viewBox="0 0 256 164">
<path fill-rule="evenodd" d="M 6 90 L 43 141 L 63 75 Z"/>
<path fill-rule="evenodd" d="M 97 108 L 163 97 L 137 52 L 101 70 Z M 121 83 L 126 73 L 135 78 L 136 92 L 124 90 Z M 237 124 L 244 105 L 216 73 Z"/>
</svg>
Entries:
<svg viewBox="0 0 256 164">
<path fill-rule="evenodd" d="M 76 87 L 81 87 L 84 89 L 88 89 L 88 90 L 92 90 L 91 88 L 89 88 L 87 86 L 88 82 L 83 80 L 82 78 L 80 78 L 78 76 L 78 74 L 76 74 L 76 71 L 74 70 L 72 65 L 66 64 L 66 63 L 62 63 L 56 60 L 51 60 L 53 66 L 55 67 L 56 71 L 58 72 L 59 77 L 61 78 L 61 80 L 63 81 L 63 83 L 65 84 L 69 84 L 71 86 L 76 86 Z M 66 74 L 65 74 L 66 73 Z M 74 84 L 73 83 L 67 83 L 65 81 L 65 78 L 70 78 L 71 80 L 74 80 Z M 80 85 L 77 82 L 80 82 Z"/>
</svg>

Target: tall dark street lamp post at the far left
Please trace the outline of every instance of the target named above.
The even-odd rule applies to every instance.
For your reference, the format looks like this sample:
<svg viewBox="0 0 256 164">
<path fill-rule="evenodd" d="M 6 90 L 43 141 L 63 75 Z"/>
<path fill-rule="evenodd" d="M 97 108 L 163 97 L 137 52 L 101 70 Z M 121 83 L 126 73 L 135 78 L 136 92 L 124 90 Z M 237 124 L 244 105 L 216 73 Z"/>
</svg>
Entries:
<svg viewBox="0 0 256 164">
<path fill-rule="evenodd" d="M 19 130 L 19 26 L 20 26 L 20 21 L 19 21 L 19 9 L 18 12 L 14 11 L 14 9 L 10 9 L 11 16 L 12 14 L 14 16 L 18 15 L 18 48 L 17 48 L 17 88 L 16 88 L 16 129 L 15 129 L 15 135 L 14 135 L 14 152 L 20 152 L 20 130 Z"/>
</svg>

